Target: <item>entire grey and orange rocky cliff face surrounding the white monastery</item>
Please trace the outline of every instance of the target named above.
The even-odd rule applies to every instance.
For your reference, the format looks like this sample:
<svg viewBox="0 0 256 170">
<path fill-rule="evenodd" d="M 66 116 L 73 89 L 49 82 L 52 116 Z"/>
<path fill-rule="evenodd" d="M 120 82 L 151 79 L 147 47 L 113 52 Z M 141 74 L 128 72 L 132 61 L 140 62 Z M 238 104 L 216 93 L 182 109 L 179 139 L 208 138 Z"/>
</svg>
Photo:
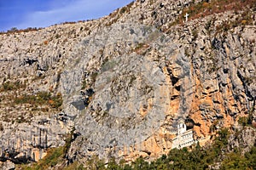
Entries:
<svg viewBox="0 0 256 170">
<path fill-rule="evenodd" d="M 255 117 L 255 5 L 190 11 L 183 23 L 210 5 L 136 1 L 100 20 L 1 35 L 2 159 L 37 161 L 73 128 L 69 161 L 154 158 L 171 150 L 179 118 L 203 143 Z"/>
</svg>

